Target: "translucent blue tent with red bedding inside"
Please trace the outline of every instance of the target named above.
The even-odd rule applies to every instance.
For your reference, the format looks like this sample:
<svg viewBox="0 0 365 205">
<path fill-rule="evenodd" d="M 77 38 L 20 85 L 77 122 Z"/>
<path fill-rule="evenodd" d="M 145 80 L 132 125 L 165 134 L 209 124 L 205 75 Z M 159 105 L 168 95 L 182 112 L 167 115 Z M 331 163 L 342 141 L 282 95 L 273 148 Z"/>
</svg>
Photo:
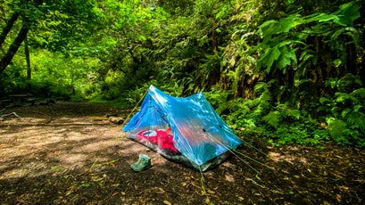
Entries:
<svg viewBox="0 0 365 205">
<path fill-rule="evenodd" d="M 170 160 L 202 171 L 220 164 L 242 143 L 202 92 L 180 98 L 155 86 L 123 132 Z"/>
</svg>

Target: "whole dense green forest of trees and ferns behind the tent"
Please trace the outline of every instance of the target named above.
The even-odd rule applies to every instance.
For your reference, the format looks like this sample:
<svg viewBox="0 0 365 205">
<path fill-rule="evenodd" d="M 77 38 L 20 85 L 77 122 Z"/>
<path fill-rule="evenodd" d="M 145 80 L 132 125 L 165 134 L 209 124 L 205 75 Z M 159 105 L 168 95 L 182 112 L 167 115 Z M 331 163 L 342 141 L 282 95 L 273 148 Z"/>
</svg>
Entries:
<svg viewBox="0 0 365 205">
<path fill-rule="evenodd" d="M 364 1 L 0 0 L 0 96 L 203 91 L 243 137 L 365 147 Z"/>
</svg>

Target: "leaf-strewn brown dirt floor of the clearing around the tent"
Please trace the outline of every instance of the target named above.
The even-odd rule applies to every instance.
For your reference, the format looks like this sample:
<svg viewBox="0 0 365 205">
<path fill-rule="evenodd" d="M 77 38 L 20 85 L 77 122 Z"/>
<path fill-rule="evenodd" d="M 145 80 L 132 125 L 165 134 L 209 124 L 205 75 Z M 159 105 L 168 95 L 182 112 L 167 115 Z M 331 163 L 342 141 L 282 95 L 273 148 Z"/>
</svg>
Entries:
<svg viewBox="0 0 365 205">
<path fill-rule="evenodd" d="M 20 118 L 0 121 L 2 204 L 365 203 L 364 150 L 270 147 L 254 138 L 261 152 L 242 145 L 242 155 L 201 174 L 127 139 L 120 125 L 95 120 L 125 111 L 86 102 L 5 113 L 12 111 Z M 140 153 L 153 166 L 134 172 Z"/>
</svg>

